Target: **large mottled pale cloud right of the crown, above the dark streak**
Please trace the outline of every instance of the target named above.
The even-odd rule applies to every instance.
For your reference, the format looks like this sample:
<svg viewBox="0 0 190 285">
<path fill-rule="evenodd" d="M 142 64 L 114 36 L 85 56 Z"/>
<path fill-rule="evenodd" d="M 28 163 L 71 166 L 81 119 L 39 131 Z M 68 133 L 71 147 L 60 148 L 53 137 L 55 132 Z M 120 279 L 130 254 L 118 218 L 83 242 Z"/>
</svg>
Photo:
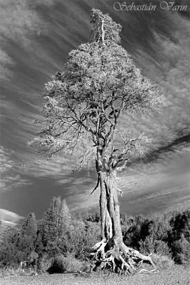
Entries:
<svg viewBox="0 0 190 285">
<path fill-rule="evenodd" d="M 146 31 L 148 36 L 151 34 L 151 42 L 144 44 L 139 39 L 132 58 L 146 77 L 159 84 L 167 106 L 160 114 L 150 114 L 147 118 L 123 117 L 121 120 L 121 125 L 130 126 L 135 135 L 144 132 L 151 139 L 146 155 L 150 154 L 155 159 L 157 151 L 159 154 L 163 147 L 164 153 L 168 150 L 170 156 L 174 155 L 178 148 L 173 148 L 171 152 L 170 146 L 179 144 L 185 138 L 187 142 L 190 134 L 189 21 L 177 13 L 167 13 L 163 23 L 166 19 L 168 29 L 163 29 L 163 26 L 156 24 L 156 19 L 152 19 L 152 25 L 147 25 Z"/>
</svg>

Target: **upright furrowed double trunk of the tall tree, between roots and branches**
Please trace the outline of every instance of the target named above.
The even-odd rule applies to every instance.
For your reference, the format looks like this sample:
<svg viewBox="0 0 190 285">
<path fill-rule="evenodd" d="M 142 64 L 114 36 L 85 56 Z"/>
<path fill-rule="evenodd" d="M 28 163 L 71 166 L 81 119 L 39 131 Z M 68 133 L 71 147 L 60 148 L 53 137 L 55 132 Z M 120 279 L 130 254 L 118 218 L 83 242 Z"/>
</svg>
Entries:
<svg viewBox="0 0 190 285">
<path fill-rule="evenodd" d="M 122 242 L 120 211 L 116 186 L 116 170 L 100 173 L 101 236 L 106 240 L 116 237 Z"/>
</svg>

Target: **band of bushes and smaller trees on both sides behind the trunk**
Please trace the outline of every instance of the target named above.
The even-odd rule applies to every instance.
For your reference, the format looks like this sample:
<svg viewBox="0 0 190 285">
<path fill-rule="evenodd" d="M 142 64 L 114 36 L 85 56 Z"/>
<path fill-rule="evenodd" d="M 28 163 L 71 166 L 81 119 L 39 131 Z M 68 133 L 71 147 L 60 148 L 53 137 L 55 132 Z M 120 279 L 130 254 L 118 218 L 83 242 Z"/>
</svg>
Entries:
<svg viewBox="0 0 190 285">
<path fill-rule="evenodd" d="M 157 266 L 165 267 L 172 259 L 189 264 L 190 210 L 136 217 L 121 214 L 120 222 L 124 243 L 144 254 L 152 253 Z M 90 271 L 94 267 L 92 246 L 100 235 L 98 211 L 75 217 L 65 200 L 54 197 L 37 226 L 34 214 L 27 217 L 21 230 L 0 223 L 1 270 L 18 269 L 21 261 L 30 260 L 28 246 L 35 255 L 31 263 L 37 273 Z"/>
</svg>

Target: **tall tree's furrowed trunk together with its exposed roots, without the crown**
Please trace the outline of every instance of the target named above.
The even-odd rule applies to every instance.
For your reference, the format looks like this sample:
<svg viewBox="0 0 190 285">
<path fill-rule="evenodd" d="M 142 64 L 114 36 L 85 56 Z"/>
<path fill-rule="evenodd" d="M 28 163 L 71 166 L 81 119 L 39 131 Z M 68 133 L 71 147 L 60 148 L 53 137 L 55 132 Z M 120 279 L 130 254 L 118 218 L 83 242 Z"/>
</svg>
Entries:
<svg viewBox="0 0 190 285">
<path fill-rule="evenodd" d="M 116 174 L 116 170 L 99 171 L 102 240 L 93 246 L 97 261 L 94 271 L 108 266 L 113 271 L 132 273 L 136 270 L 135 265 L 140 265 L 142 261 L 149 261 L 155 268 L 150 256 L 128 248 L 123 242 Z"/>
</svg>

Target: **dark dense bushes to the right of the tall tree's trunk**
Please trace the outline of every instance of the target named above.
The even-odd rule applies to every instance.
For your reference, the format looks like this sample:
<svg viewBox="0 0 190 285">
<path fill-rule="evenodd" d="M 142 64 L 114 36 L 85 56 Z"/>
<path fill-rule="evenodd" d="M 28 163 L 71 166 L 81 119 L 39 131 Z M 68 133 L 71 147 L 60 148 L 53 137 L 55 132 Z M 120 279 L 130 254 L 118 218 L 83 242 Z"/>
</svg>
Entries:
<svg viewBox="0 0 190 285">
<path fill-rule="evenodd" d="M 174 213 L 154 212 L 146 218 L 142 215 L 121 216 L 124 242 L 144 254 L 172 255 L 178 263 L 189 260 L 190 211 Z"/>
</svg>

